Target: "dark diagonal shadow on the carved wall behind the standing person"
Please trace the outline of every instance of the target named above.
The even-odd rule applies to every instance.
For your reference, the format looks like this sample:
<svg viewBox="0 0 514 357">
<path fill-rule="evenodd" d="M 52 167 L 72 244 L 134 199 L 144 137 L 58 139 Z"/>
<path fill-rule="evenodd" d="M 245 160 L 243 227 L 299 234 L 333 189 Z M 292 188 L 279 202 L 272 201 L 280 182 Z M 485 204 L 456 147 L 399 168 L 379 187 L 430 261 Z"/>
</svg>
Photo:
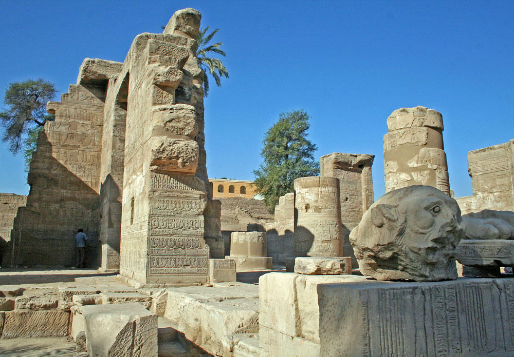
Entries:
<svg viewBox="0 0 514 357">
<path fill-rule="evenodd" d="M 75 235 L 84 229 L 89 240 L 87 267 L 100 266 L 99 195 L 56 158 L 44 133 L 32 156 L 26 207 L 17 210 L 4 265 L 75 266 Z M 69 152 L 73 154 L 72 150 Z M 70 158 L 70 160 L 73 160 Z M 90 165 L 76 165 L 86 177 Z M 91 176 L 95 174 L 91 171 Z"/>
</svg>

